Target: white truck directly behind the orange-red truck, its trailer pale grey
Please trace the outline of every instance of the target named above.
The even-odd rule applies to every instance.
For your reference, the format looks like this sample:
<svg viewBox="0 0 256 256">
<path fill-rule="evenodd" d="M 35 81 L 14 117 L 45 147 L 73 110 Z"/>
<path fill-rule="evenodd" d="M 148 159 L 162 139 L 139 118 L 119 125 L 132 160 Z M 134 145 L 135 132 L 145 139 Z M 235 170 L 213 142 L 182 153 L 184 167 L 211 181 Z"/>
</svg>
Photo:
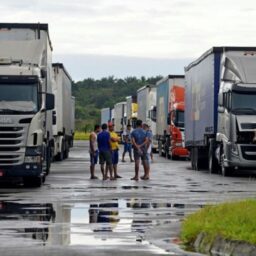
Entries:
<svg viewBox="0 0 256 256">
<path fill-rule="evenodd" d="M 152 151 L 157 151 L 156 144 L 156 87 L 145 85 L 137 90 L 138 114 L 137 118 L 147 123 L 153 134 Z"/>
</svg>

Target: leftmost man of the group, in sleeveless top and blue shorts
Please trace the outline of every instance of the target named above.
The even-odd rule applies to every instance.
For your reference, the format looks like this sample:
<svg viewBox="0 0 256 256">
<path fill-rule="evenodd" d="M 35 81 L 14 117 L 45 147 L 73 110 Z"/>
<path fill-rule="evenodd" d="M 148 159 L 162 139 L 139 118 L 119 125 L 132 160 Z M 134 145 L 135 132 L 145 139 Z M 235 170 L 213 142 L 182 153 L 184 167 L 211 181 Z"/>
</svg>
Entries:
<svg viewBox="0 0 256 256">
<path fill-rule="evenodd" d="M 90 147 L 89 147 L 89 153 L 90 153 L 90 172 L 91 172 L 91 179 L 98 179 L 98 177 L 95 176 L 95 165 L 98 162 L 98 156 L 99 151 L 97 147 L 97 134 L 100 132 L 100 126 L 96 124 L 94 126 L 94 131 L 91 132 L 89 137 Z"/>
</svg>

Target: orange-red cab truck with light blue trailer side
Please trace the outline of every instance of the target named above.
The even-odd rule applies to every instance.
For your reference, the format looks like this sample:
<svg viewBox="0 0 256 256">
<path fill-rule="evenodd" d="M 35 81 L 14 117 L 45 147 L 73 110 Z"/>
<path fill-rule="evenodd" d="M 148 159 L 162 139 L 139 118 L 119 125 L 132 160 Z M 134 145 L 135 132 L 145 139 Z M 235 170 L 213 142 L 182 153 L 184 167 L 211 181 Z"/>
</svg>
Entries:
<svg viewBox="0 0 256 256">
<path fill-rule="evenodd" d="M 189 156 L 184 143 L 184 75 L 168 75 L 156 83 L 158 151 L 171 159 Z"/>
</svg>

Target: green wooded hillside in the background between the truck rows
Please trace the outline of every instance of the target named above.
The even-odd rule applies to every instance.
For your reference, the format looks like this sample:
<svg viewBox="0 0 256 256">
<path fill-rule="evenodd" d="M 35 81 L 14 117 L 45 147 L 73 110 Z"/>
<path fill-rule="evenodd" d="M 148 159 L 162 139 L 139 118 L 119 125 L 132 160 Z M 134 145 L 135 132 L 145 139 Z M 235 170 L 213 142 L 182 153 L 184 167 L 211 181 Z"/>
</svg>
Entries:
<svg viewBox="0 0 256 256">
<path fill-rule="evenodd" d="M 100 110 L 113 108 L 114 104 L 125 101 L 127 96 L 136 94 L 140 87 L 155 84 L 161 76 L 151 78 L 113 76 L 95 80 L 92 78 L 78 81 L 72 85 L 72 95 L 76 97 L 76 130 L 91 131 L 100 122 Z"/>
</svg>

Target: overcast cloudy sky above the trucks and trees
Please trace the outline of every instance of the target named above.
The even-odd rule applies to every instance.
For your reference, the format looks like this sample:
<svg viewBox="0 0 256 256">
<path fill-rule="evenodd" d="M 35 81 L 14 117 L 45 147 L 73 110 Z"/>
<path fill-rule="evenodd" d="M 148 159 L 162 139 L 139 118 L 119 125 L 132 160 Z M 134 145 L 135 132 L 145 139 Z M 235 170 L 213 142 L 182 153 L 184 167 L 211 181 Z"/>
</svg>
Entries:
<svg viewBox="0 0 256 256">
<path fill-rule="evenodd" d="M 212 46 L 256 46 L 253 0 L 1 0 L 2 22 L 49 23 L 74 80 L 182 74 Z"/>
</svg>

